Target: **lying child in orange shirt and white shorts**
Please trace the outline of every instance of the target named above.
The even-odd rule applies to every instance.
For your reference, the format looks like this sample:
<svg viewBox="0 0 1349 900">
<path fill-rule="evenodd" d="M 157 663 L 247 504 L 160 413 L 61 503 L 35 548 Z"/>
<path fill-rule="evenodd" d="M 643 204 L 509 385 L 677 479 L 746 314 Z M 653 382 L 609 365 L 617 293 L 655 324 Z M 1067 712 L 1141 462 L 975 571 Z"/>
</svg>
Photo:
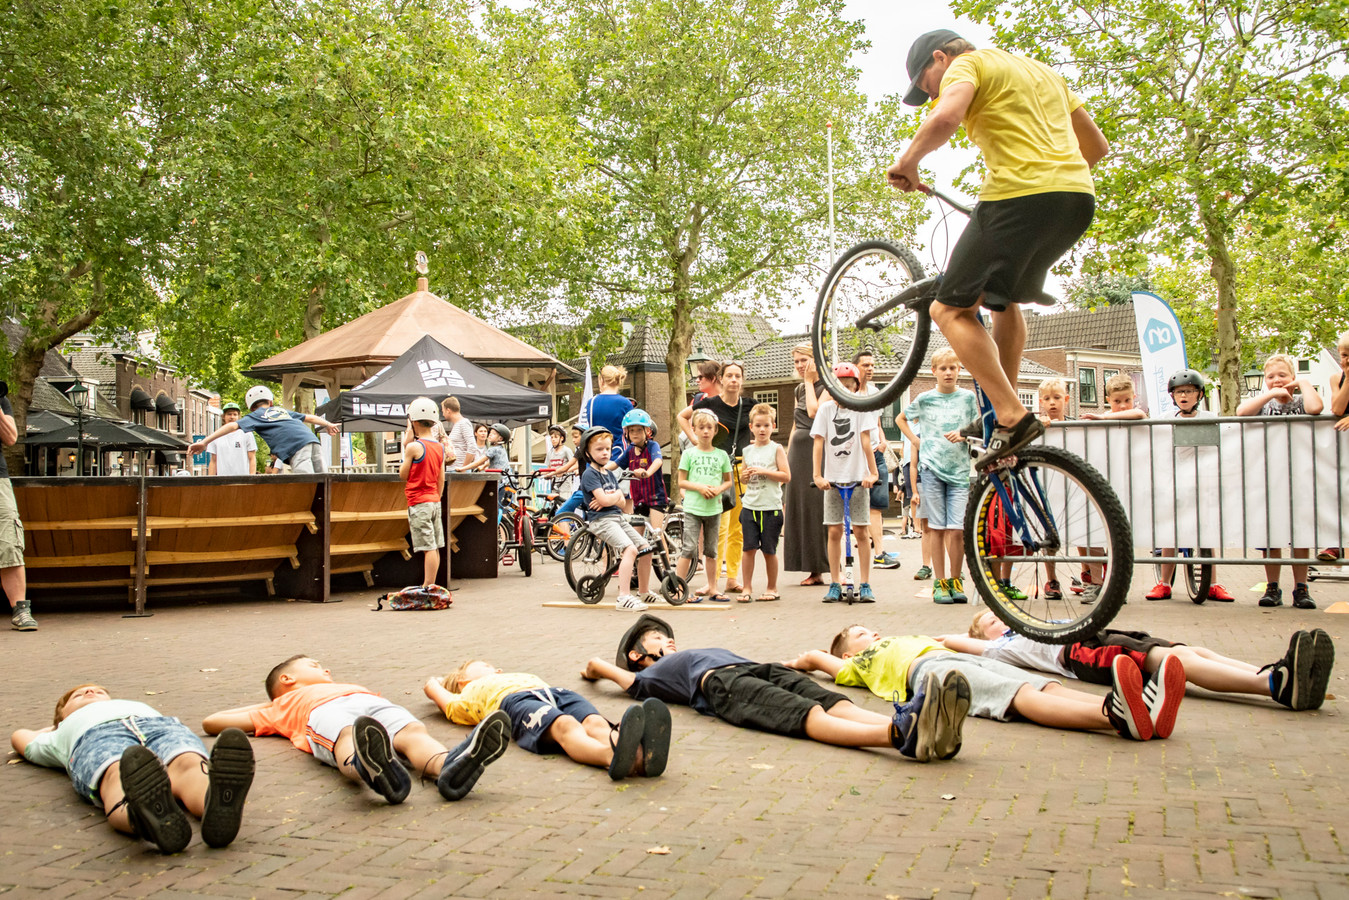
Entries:
<svg viewBox="0 0 1349 900">
<path fill-rule="evenodd" d="M 285 735 L 295 749 L 352 781 L 363 781 L 389 803 L 402 803 L 413 787 L 395 750 L 422 777 L 440 760 L 440 795 L 461 800 L 473 789 L 483 766 L 499 760 L 510 743 L 510 719 L 494 712 L 463 743 L 447 750 L 411 712 L 357 684 L 333 683 L 332 673 L 305 654 L 267 673 L 267 696 L 271 699 L 266 703 L 208 715 L 202 727 L 206 734 L 235 727 L 259 737 Z"/>
</svg>

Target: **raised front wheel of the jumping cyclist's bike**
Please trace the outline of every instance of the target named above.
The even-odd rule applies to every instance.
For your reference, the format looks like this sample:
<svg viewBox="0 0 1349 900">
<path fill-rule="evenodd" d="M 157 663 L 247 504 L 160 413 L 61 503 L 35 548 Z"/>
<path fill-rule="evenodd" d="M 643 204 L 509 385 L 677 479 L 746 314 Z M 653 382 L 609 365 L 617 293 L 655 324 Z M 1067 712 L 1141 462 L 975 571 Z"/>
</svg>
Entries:
<svg viewBox="0 0 1349 900">
<path fill-rule="evenodd" d="M 912 251 L 888 240 L 865 240 L 839 256 L 815 302 L 811 345 L 820 382 L 840 405 L 876 410 L 888 406 L 913 382 L 927 352 L 932 318 L 923 263 Z M 908 305 L 913 300 L 913 305 Z M 862 397 L 835 378 L 834 366 L 850 363 L 862 349 L 896 375 L 878 394 Z"/>
</svg>

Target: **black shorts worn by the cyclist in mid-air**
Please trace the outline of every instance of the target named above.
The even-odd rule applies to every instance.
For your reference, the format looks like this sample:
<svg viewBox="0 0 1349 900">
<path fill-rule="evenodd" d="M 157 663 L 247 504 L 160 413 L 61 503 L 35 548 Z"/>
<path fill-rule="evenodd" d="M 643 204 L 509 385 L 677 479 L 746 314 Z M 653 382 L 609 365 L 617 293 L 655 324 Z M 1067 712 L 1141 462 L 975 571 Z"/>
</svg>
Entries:
<svg viewBox="0 0 1349 900">
<path fill-rule="evenodd" d="M 1095 197 L 1074 192 L 981 200 L 955 242 L 936 302 L 969 309 L 982 297 L 993 310 L 1008 304 L 1054 304 L 1044 293 L 1044 278 L 1094 215 Z"/>
</svg>

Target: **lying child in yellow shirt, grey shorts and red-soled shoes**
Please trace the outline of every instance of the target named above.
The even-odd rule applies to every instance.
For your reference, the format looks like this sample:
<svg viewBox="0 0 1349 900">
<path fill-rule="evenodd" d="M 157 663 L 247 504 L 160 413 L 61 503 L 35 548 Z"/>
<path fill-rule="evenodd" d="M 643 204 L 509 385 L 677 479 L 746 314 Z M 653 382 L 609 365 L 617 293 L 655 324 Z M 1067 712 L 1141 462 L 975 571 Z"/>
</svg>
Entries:
<svg viewBox="0 0 1349 900">
<path fill-rule="evenodd" d="M 786 665 L 824 672 L 836 684 L 866 687 L 881 698 L 894 694 L 902 698 L 925 677 L 959 672 L 970 683 L 971 715 L 1008 722 L 1014 712 L 1051 729 L 1113 727 L 1120 737 L 1135 741 L 1170 737 L 1184 696 L 1184 668 L 1176 658 L 1166 660 L 1151 691 L 1144 691 L 1135 661 L 1117 657 L 1112 690 L 1102 704 L 1094 694 L 1066 688 L 1002 663 L 954 653 L 921 634 L 882 638 L 862 625 L 839 631 L 828 653 L 807 650 Z"/>
</svg>

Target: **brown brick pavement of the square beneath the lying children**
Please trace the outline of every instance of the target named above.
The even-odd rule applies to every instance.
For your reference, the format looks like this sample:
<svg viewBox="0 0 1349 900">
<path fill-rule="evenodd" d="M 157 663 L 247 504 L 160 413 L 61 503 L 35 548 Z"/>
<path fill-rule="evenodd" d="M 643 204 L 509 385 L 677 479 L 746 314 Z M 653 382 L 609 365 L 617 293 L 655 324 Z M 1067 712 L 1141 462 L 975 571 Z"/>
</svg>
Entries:
<svg viewBox="0 0 1349 900">
<path fill-rule="evenodd" d="M 967 607 L 915 596 L 916 541 L 896 542 L 881 603 L 819 603 L 789 587 L 776 604 L 672 611 L 685 646 L 727 645 L 776 660 L 826 645 L 862 619 L 882 633 L 963 630 Z M 1145 582 L 1139 573 L 1139 582 Z M 1349 654 L 1338 615 L 1259 610 L 1259 569 L 1222 572 L 1234 606 L 1145 603 L 1136 584 L 1120 622 L 1267 663 L 1318 625 Z M 1287 579 L 1286 579 L 1287 580 Z M 793 582 L 789 582 L 795 584 Z M 383 691 L 432 734 L 464 733 L 421 694 L 463 657 L 533 671 L 618 716 L 625 698 L 576 677 L 611 657 L 631 614 L 542 609 L 565 599 L 561 567 L 464 582 L 447 613 L 372 613 L 374 592 L 329 606 L 177 606 L 148 619 L 38 609 L 42 630 L 0 633 L 0 708 L 42 725 L 66 687 L 98 680 L 189 725 L 263 699 L 275 661 L 313 654 L 339 677 Z M 1322 606 L 1349 586 L 1315 586 Z M 1346 671 L 1341 664 L 1341 671 Z M 1342 691 L 1344 675 L 1331 681 Z M 851 691 L 844 688 L 846 691 Z M 1089 688 L 1095 690 L 1095 688 Z M 112 833 L 59 773 L 5 766 L 0 892 L 90 897 L 1116 897 L 1349 896 L 1349 784 L 1340 702 L 1292 714 L 1191 690 L 1170 741 L 1129 743 L 1027 723 L 971 719 L 959 758 L 915 765 L 893 752 L 827 748 L 674 711 L 662 779 L 611 783 L 599 769 L 518 749 L 459 804 L 434 788 L 401 807 L 345 783 L 282 738 L 255 741 L 258 779 L 233 846 L 194 839 L 174 857 Z M 861 691 L 871 708 L 886 704 Z M 13 758 L 13 757 L 11 757 Z M 950 795 L 952 799 L 943 799 Z M 668 855 L 648 854 L 668 846 Z"/>
</svg>

